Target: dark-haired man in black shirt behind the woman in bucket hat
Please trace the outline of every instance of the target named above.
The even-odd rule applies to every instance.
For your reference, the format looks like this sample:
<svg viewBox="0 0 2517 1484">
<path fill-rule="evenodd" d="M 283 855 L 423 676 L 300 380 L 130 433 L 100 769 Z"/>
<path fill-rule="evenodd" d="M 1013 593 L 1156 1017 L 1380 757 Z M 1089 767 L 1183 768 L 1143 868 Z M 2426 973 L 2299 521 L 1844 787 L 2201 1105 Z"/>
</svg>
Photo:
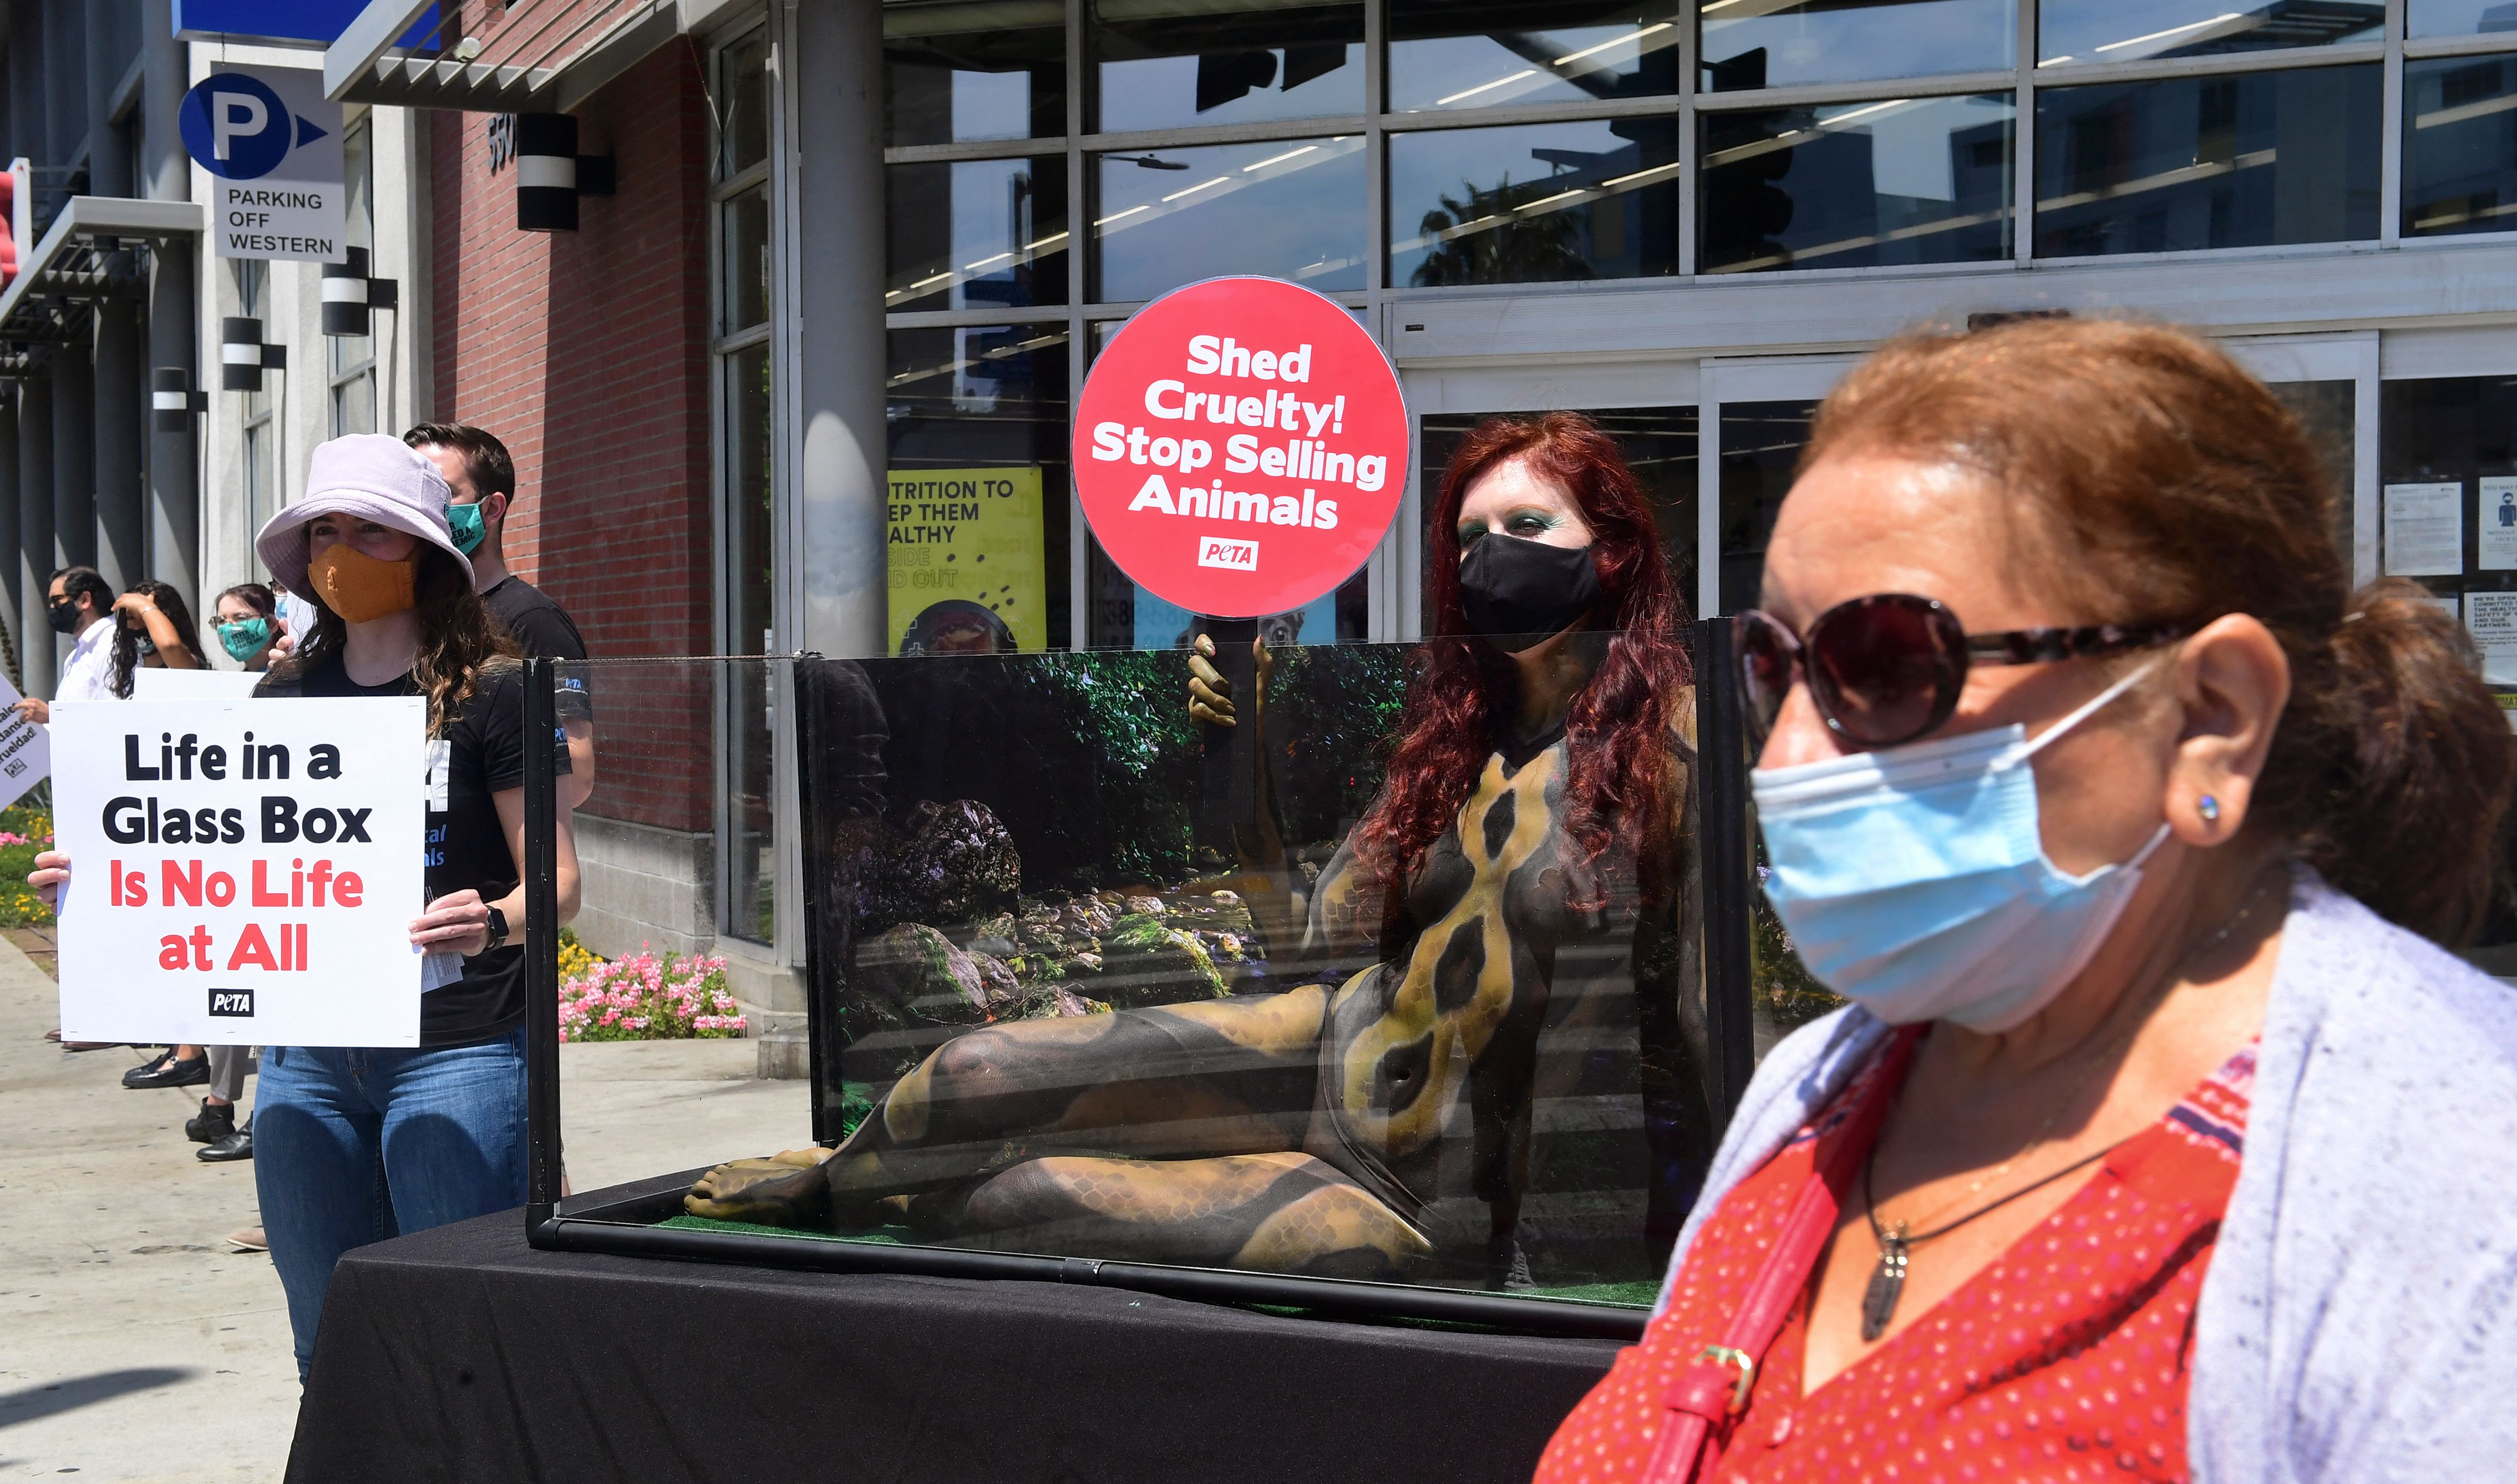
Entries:
<svg viewBox="0 0 2517 1484">
<path fill-rule="evenodd" d="M 586 639 L 569 611 L 506 568 L 506 511 L 516 503 L 516 458 L 506 443 L 471 423 L 420 423 L 403 433 L 403 443 L 446 475 L 446 488 L 453 490 L 446 523 L 473 563 L 473 589 L 488 611 L 498 614 L 526 654 L 584 659 Z M 569 777 L 561 780 L 559 797 L 574 810 L 594 795 L 594 709 L 584 674 L 566 674 L 559 687 L 559 724 L 569 734 Z"/>
</svg>

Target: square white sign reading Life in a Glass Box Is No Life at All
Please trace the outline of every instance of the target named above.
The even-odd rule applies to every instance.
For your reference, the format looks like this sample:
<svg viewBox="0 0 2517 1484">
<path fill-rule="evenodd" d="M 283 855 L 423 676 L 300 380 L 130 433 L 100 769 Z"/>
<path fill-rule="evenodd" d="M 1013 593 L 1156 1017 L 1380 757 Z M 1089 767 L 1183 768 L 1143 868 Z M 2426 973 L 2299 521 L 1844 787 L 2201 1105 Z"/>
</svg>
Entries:
<svg viewBox="0 0 2517 1484">
<path fill-rule="evenodd" d="M 418 1046 L 428 707 L 53 707 L 60 1036 Z"/>
</svg>

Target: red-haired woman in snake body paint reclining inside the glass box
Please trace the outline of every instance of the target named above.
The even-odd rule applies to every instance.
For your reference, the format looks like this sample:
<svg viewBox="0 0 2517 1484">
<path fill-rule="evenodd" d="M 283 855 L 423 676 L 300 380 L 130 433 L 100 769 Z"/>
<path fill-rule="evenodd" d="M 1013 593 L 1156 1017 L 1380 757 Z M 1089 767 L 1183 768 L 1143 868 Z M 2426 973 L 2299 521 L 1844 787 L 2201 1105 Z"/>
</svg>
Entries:
<svg viewBox="0 0 2517 1484">
<path fill-rule="evenodd" d="M 1442 478 L 1427 566 L 1440 636 L 1382 795 L 1299 951 L 1271 953 L 1314 983 L 964 1034 L 836 1152 L 717 1167 L 687 1210 L 1525 1285 L 1523 1197 L 1556 1157 L 1533 1109 L 1639 1092 L 1644 1129 L 1566 1137 L 1588 1162 L 1556 1187 L 1603 1205 L 1568 1240 L 1656 1265 L 1709 1157 L 1694 692 L 1659 533 L 1596 425 L 1493 420 Z M 1191 714 L 1236 724 L 1216 669 L 1191 669 Z M 1606 1215 L 1606 1185 L 1634 1207 Z"/>
</svg>

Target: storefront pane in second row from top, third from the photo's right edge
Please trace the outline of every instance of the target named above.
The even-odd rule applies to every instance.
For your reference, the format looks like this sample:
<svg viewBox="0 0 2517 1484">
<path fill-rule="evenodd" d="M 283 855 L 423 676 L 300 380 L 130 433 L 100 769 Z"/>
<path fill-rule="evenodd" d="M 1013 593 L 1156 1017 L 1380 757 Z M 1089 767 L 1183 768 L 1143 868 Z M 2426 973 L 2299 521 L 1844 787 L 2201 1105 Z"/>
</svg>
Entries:
<svg viewBox="0 0 2517 1484">
<path fill-rule="evenodd" d="M 2009 93 L 1707 113 L 1704 272 L 2011 257 Z"/>
</svg>

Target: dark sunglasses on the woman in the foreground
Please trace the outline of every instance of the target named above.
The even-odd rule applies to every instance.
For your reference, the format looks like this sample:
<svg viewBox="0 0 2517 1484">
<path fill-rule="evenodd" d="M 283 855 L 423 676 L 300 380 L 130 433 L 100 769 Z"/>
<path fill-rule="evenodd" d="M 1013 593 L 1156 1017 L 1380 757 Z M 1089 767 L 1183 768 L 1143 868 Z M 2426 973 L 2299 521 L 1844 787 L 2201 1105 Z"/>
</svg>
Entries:
<svg viewBox="0 0 2517 1484">
<path fill-rule="evenodd" d="M 1938 599 L 1873 594 L 1835 604 L 1805 634 L 1774 614 L 1732 619 L 1739 677 L 1757 747 L 1764 747 L 1792 694 L 1792 672 L 1827 729 L 1863 747 L 1913 742 L 1948 722 L 1976 664 L 2051 664 L 2152 649 L 2187 634 L 2185 624 L 2092 624 L 2084 629 L 2009 629 L 1968 634 Z"/>
</svg>

